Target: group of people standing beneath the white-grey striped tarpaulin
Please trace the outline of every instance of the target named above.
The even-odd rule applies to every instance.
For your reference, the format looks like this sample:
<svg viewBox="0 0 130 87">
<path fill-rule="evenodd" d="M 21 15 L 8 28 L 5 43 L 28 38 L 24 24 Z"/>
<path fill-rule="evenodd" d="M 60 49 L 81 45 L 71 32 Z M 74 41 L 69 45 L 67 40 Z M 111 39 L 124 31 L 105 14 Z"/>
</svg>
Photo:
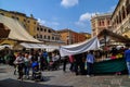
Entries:
<svg viewBox="0 0 130 87">
<path fill-rule="evenodd" d="M 69 71 L 75 73 L 76 75 L 87 75 L 88 77 L 93 74 L 93 63 L 95 57 L 93 54 L 93 50 L 90 50 L 84 53 L 74 54 L 65 57 L 64 61 L 66 64 L 66 59 L 70 63 Z M 65 64 L 63 64 L 63 71 L 65 72 Z M 86 65 L 87 64 L 87 65 Z M 87 70 L 86 70 L 87 66 Z"/>
</svg>

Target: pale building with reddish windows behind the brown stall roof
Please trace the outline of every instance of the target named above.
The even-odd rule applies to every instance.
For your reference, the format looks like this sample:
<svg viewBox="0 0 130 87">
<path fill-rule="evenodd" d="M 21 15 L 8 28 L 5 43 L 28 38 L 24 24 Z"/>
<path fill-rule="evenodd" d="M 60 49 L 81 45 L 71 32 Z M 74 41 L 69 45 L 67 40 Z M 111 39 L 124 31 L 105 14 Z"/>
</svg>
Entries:
<svg viewBox="0 0 130 87">
<path fill-rule="evenodd" d="M 95 14 L 91 17 L 92 37 L 96 36 L 103 29 L 112 29 L 112 13 Z"/>
</svg>

